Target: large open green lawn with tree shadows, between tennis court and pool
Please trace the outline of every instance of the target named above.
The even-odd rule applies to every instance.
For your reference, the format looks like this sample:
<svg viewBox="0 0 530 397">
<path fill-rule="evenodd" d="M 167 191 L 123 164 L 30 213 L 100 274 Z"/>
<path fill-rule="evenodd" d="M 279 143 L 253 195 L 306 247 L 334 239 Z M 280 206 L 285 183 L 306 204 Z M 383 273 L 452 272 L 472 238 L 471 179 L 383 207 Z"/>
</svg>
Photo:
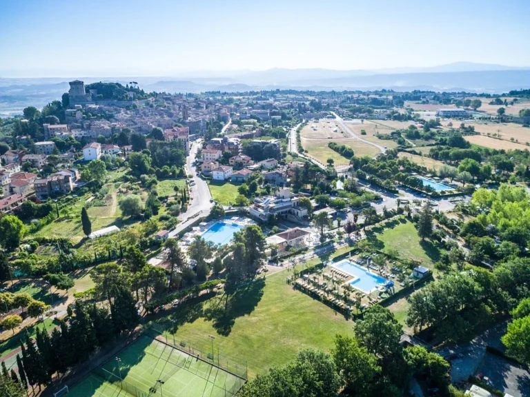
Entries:
<svg viewBox="0 0 530 397">
<path fill-rule="evenodd" d="M 248 363 L 248 375 L 264 374 L 284 365 L 300 349 L 329 351 L 335 334 L 352 334 L 353 323 L 320 301 L 286 284 L 289 272 L 279 272 L 239 289 L 235 296 L 216 296 L 189 303 L 158 323 L 176 329 L 175 338 L 209 351 L 214 350 Z M 225 306 L 226 305 L 226 306 Z M 173 326 L 168 320 L 175 320 Z"/>
</svg>

